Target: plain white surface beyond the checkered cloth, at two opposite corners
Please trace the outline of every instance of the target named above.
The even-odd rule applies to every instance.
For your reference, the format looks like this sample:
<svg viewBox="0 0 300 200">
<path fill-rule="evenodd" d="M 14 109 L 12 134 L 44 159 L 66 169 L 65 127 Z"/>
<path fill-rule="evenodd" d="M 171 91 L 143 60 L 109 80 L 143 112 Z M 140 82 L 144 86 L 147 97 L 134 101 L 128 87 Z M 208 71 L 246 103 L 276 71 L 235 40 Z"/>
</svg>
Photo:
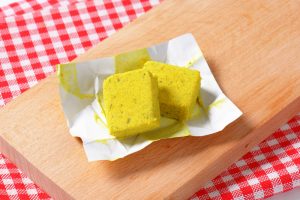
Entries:
<svg viewBox="0 0 300 200">
<path fill-rule="evenodd" d="M 3 7 L 5 5 L 8 5 L 13 2 L 17 2 L 20 0 L 0 0 L 0 7 Z M 291 190 L 289 192 L 277 194 L 268 200 L 298 200 L 300 199 L 300 188 L 295 188 L 294 190 Z"/>
</svg>

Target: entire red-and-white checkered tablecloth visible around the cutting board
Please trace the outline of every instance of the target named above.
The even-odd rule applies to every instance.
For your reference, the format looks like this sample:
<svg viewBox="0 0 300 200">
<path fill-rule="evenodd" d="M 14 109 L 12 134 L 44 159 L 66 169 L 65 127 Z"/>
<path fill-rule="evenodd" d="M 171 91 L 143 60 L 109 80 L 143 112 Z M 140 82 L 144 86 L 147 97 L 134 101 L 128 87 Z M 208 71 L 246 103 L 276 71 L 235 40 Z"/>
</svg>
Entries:
<svg viewBox="0 0 300 200">
<path fill-rule="evenodd" d="M 0 9 L 0 106 L 159 0 L 23 0 Z M 0 130 L 1 131 L 1 130 Z M 263 199 L 300 185 L 300 114 L 191 199 Z M 0 154 L 0 199 L 50 199 Z"/>
</svg>

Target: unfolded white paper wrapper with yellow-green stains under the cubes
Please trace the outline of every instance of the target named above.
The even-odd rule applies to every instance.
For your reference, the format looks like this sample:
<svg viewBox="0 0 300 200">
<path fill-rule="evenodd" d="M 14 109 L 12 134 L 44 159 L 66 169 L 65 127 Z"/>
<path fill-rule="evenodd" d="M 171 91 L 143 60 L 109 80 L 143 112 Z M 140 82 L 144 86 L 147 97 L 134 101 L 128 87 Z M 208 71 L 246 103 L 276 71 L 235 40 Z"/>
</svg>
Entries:
<svg viewBox="0 0 300 200">
<path fill-rule="evenodd" d="M 193 118 L 186 123 L 161 119 L 161 127 L 126 139 L 110 135 L 102 111 L 102 84 L 106 77 L 141 68 L 155 60 L 200 71 L 200 98 Z M 242 115 L 218 86 L 191 34 L 181 35 L 145 49 L 58 66 L 60 96 L 70 133 L 80 137 L 89 161 L 116 160 L 165 138 L 205 136 L 224 129 Z"/>
</svg>

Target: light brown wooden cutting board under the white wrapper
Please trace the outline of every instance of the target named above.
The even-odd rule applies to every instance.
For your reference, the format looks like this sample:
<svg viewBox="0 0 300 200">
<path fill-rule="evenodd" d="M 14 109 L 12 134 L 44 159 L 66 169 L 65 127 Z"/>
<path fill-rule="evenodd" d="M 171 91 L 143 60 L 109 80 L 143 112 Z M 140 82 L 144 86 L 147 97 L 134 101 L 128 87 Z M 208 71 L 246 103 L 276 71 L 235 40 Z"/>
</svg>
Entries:
<svg viewBox="0 0 300 200">
<path fill-rule="evenodd" d="M 0 110 L 0 147 L 56 199 L 185 199 L 300 111 L 298 0 L 167 0 L 76 61 L 191 32 L 244 115 L 207 137 L 169 139 L 88 163 L 53 75 Z"/>
</svg>

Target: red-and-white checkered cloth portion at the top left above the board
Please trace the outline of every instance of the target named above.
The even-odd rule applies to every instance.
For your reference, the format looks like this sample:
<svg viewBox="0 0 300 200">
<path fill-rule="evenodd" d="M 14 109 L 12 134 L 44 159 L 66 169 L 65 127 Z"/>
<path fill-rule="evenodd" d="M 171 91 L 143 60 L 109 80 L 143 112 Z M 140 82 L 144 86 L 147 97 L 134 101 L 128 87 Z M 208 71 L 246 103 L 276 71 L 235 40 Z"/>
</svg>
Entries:
<svg viewBox="0 0 300 200">
<path fill-rule="evenodd" d="M 50 3 L 45 1 L 23 1 L 10 6 L 7 9 L 10 11 L 2 10 L 0 105 L 53 73 L 56 64 L 74 59 L 159 3 L 146 0 L 66 2 L 47 6 Z M 45 5 L 46 8 L 34 10 L 28 6 L 31 3 L 33 7 Z"/>
</svg>

